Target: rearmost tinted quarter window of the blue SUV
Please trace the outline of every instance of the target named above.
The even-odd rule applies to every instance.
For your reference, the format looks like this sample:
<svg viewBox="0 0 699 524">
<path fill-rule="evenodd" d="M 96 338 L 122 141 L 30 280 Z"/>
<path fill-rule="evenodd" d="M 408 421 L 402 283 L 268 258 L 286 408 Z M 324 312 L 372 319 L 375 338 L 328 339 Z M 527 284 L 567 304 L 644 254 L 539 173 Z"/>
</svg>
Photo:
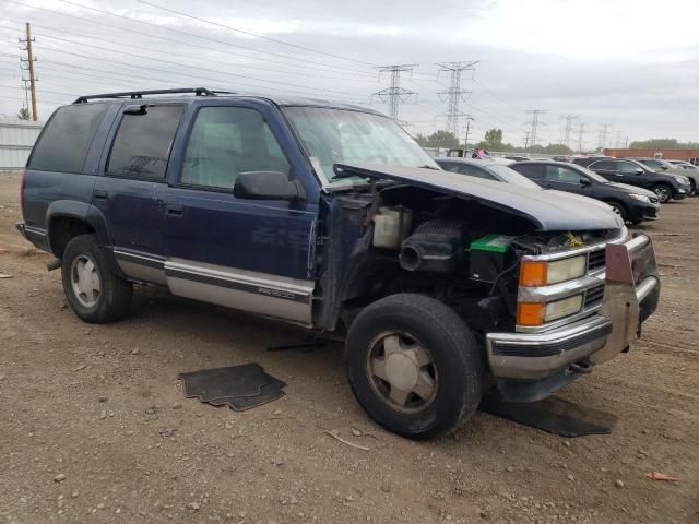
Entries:
<svg viewBox="0 0 699 524">
<path fill-rule="evenodd" d="M 34 146 L 27 168 L 82 172 L 87 150 L 106 110 L 106 104 L 58 108 Z"/>
</svg>

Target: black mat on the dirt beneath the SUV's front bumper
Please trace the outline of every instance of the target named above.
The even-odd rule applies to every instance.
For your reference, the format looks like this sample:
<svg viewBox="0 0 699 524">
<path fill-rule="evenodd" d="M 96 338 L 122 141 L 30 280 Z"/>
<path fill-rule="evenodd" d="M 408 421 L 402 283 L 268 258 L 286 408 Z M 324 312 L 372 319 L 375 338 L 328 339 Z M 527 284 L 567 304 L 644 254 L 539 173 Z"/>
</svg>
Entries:
<svg viewBox="0 0 699 524">
<path fill-rule="evenodd" d="M 478 409 L 513 422 L 562 437 L 609 434 L 617 417 L 557 396 L 532 403 L 505 402 L 496 393 L 483 397 Z"/>
</svg>

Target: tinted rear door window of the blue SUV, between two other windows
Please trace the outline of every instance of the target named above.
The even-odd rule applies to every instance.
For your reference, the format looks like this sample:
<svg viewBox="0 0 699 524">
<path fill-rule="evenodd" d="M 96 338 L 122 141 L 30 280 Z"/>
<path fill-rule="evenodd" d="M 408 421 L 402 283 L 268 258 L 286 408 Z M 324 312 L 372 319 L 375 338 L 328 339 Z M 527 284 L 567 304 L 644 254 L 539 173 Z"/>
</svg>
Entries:
<svg viewBox="0 0 699 524">
<path fill-rule="evenodd" d="M 181 105 L 147 107 L 143 115 L 125 115 L 107 163 L 107 175 L 130 178 L 165 178 L 167 159 Z"/>
</svg>

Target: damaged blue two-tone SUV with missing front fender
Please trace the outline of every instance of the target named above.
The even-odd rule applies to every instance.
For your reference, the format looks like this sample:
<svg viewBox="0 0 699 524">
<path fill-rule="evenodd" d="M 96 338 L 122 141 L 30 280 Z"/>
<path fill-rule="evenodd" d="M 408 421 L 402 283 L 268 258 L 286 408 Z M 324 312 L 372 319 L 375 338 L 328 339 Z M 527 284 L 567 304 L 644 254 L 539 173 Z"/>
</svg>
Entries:
<svg viewBox="0 0 699 524">
<path fill-rule="evenodd" d="M 486 388 L 531 402 L 628 349 L 651 240 L 605 204 L 442 171 L 379 112 L 205 88 L 83 96 L 46 124 L 20 231 L 86 322 L 133 284 L 345 338 L 358 402 L 410 438 Z"/>
</svg>

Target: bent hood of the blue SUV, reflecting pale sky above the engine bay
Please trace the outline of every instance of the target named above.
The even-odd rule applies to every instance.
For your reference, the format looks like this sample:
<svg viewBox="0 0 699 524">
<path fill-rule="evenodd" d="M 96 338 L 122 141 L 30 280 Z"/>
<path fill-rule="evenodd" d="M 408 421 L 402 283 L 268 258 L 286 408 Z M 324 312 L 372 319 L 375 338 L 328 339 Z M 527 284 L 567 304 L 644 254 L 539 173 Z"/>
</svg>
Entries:
<svg viewBox="0 0 699 524">
<path fill-rule="evenodd" d="M 550 189 L 529 189 L 437 169 L 381 164 L 336 164 L 339 175 L 396 180 L 443 194 L 477 200 L 523 216 L 541 231 L 621 229 L 624 222 L 603 202 Z M 342 172 L 344 171 L 344 172 Z"/>
</svg>

